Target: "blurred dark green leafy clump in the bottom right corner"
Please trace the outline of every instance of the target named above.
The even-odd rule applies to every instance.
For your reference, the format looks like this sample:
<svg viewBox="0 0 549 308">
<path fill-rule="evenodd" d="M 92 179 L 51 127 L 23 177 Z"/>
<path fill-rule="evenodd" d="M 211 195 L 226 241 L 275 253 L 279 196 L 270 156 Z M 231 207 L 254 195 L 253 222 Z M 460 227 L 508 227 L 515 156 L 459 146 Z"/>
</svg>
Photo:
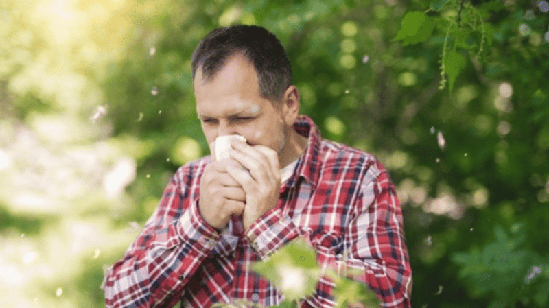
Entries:
<svg viewBox="0 0 549 308">
<path fill-rule="evenodd" d="M 522 228 L 522 224 L 513 225 L 509 237 L 504 228 L 495 226 L 495 241 L 482 250 L 472 248 L 468 253 L 452 255 L 452 261 L 460 265 L 459 276 L 476 286 L 471 292 L 475 296 L 495 298 L 490 307 L 506 307 L 519 302 L 526 306 L 547 306 L 549 258 L 540 257 L 525 247 L 526 235 Z M 532 287 L 534 284 L 536 286 Z"/>
</svg>

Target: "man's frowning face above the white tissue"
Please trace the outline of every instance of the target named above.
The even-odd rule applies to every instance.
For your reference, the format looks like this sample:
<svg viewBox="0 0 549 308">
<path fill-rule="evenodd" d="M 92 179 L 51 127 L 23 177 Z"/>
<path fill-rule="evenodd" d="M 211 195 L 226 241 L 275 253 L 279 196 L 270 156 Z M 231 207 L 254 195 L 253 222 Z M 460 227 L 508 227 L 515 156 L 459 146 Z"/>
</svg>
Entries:
<svg viewBox="0 0 549 308">
<path fill-rule="evenodd" d="M 240 134 L 249 145 L 265 145 L 281 155 L 285 139 L 281 112 L 261 97 L 253 64 L 244 56 L 230 58 L 207 82 L 202 80 L 199 67 L 194 94 L 198 119 L 209 144 L 218 136 Z"/>
</svg>

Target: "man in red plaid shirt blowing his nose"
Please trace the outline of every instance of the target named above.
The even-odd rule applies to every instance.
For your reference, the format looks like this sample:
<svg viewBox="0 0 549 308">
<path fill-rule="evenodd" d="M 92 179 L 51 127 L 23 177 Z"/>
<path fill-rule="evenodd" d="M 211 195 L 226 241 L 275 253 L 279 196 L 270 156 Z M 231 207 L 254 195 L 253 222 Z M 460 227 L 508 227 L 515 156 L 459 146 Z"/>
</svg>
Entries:
<svg viewBox="0 0 549 308">
<path fill-rule="evenodd" d="M 279 40 L 266 29 L 215 29 L 192 59 L 196 112 L 215 139 L 237 134 L 229 158 L 178 169 L 158 208 L 106 276 L 108 307 L 210 307 L 283 295 L 250 270 L 305 237 L 318 264 L 353 278 L 386 307 L 410 307 L 411 269 L 393 183 L 369 154 L 320 139 L 299 115 L 299 91 Z M 301 307 L 332 307 L 320 279 Z"/>
</svg>

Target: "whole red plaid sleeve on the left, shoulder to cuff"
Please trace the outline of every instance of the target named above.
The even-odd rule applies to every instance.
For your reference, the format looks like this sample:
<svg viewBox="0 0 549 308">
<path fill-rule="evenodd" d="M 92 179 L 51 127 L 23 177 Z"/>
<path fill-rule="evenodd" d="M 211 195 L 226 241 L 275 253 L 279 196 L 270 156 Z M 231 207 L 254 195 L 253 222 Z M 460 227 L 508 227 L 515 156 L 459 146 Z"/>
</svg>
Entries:
<svg viewBox="0 0 549 308">
<path fill-rule="evenodd" d="M 106 307 L 173 307 L 220 235 L 207 225 L 180 168 L 122 259 L 106 274 Z"/>
</svg>

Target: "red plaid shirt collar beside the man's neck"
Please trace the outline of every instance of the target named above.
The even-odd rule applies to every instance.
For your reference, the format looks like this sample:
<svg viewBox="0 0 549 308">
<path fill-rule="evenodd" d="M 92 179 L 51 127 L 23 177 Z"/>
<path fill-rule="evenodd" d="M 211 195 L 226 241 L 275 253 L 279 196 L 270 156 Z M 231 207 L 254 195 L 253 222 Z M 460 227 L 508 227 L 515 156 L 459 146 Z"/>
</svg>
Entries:
<svg viewBox="0 0 549 308">
<path fill-rule="evenodd" d="M 299 161 L 297 163 L 295 176 L 288 180 L 288 184 L 291 186 L 294 181 L 297 181 L 300 177 L 310 182 L 313 186 L 316 186 L 318 177 L 320 176 L 320 131 L 314 124 L 313 120 L 306 115 L 299 115 L 294 123 L 294 130 L 298 134 L 307 137 L 307 147 L 303 150 Z"/>
</svg>

